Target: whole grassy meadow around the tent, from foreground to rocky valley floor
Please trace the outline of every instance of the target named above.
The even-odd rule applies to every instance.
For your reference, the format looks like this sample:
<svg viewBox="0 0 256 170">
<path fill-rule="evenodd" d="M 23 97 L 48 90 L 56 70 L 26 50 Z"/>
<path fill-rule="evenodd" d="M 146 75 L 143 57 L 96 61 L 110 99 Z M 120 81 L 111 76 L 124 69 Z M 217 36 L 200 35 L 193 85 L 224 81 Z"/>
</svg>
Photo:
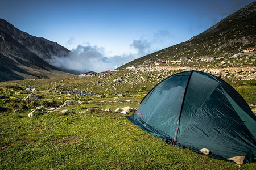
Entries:
<svg viewBox="0 0 256 170">
<path fill-rule="evenodd" d="M 9 98 L 0 99 L 0 106 L 7 108 L 0 113 L 0 169 L 256 169 L 256 163 L 237 165 L 171 147 L 139 129 L 125 117 L 133 114 L 132 109 L 127 114 L 115 109 L 137 108 L 156 82 L 121 82 L 114 86 L 116 77 L 112 76 L 107 77 L 110 82 L 102 85 L 111 86 L 111 92 L 106 92 L 99 83 L 93 84 L 102 83 L 100 76 L 1 83 L 0 96 Z M 28 91 L 24 85 L 38 88 Z M 255 82 L 237 82 L 233 86 L 247 103 L 254 104 Z M 63 92 L 74 89 L 97 95 Z M 43 99 L 24 101 L 31 92 Z M 118 97 L 119 92 L 125 96 Z M 68 99 L 81 104 L 61 107 Z M 28 117 L 38 106 L 42 108 Z M 61 112 L 64 109 L 69 111 Z"/>
</svg>

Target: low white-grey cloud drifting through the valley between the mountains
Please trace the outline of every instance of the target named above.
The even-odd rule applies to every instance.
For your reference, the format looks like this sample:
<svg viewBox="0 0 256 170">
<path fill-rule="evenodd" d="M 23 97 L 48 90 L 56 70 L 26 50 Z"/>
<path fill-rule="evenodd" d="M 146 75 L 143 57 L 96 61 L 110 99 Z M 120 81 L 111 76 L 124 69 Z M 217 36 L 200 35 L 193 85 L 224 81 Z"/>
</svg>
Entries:
<svg viewBox="0 0 256 170">
<path fill-rule="evenodd" d="M 75 70 L 81 73 L 85 70 L 97 72 L 112 70 L 122 66 L 122 64 L 154 52 L 151 48 L 151 44 L 160 41 L 165 36 L 170 36 L 168 31 L 155 33 L 151 37 L 151 41 L 148 41 L 148 39 L 144 37 L 141 37 L 139 40 L 133 40 L 130 47 L 136 50 L 135 53 L 111 57 L 107 57 L 104 48 L 91 46 L 89 43 L 86 43 L 84 45 L 78 45 L 76 49 L 72 49 L 67 57 L 52 57 L 49 63 L 59 68 Z M 73 38 L 69 41 L 72 42 Z"/>
</svg>

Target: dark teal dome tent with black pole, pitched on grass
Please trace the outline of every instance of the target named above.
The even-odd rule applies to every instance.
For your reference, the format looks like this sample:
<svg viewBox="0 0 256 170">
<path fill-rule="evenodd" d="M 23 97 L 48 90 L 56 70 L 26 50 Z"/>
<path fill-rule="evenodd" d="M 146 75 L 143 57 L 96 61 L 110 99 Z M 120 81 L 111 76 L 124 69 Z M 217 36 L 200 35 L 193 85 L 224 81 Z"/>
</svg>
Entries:
<svg viewBox="0 0 256 170">
<path fill-rule="evenodd" d="M 157 84 L 141 101 L 133 124 L 172 146 L 238 164 L 254 161 L 256 116 L 224 80 L 185 71 Z"/>
</svg>

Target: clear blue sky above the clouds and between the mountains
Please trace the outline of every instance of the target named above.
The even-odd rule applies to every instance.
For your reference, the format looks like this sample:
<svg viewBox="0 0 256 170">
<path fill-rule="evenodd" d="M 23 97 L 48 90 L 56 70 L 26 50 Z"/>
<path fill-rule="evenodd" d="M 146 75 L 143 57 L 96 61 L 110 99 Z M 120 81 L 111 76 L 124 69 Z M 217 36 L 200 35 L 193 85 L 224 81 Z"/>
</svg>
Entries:
<svg viewBox="0 0 256 170">
<path fill-rule="evenodd" d="M 104 58 L 130 54 L 138 58 L 187 41 L 253 2 L 1 1 L 0 18 L 16 28 L 69 50 L 89 46 L 100 50 Z"/>
</svg>

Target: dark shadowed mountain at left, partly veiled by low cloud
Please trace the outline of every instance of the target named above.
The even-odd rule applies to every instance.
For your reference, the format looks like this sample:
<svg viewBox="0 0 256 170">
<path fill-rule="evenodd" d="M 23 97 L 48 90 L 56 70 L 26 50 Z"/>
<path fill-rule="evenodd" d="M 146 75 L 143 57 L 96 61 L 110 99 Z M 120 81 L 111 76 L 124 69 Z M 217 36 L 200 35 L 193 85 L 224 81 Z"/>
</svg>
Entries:
<svg viewBox="0 0 256 170">
<path fill-rule="evenodd" d="M 56 42 L 31 36 L 0 19 L 0 82 L 72 75 L 46 62 L 68 52 Z"/>
</svg>

